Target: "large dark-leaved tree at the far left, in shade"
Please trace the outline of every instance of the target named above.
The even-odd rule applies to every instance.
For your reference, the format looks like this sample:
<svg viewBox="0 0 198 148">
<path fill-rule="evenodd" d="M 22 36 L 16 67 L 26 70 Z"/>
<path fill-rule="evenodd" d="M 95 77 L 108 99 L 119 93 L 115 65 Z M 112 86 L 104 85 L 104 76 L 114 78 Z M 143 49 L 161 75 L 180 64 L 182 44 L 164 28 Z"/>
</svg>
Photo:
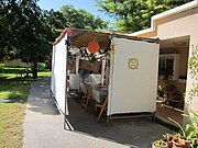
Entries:
<svg viewBox="0 0 198 148">
<path fill-rule="evenodd" d="M 50 58 L 55 36 L 36 4 L 37 0 L 0 1 L 0 55 L 25 62 L 44 61 Z"/>
</svg>

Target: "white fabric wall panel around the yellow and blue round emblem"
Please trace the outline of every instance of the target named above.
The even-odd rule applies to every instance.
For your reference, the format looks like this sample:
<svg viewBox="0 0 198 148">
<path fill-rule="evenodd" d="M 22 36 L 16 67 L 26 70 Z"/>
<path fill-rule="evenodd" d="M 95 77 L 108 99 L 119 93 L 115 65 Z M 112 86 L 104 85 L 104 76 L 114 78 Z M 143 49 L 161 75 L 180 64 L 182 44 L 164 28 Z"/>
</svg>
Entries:
<svg viewBox="0 0 198 148">
<path fill-rule="evenodd" d="M 108 115 L 154 112 L 156 110 L 158 48 L 155 43 L 113 38 L 116 54 L 111 68 Z M 131 57 L 139 58 L 139 69 L 128 68 Z"/>
</svg>

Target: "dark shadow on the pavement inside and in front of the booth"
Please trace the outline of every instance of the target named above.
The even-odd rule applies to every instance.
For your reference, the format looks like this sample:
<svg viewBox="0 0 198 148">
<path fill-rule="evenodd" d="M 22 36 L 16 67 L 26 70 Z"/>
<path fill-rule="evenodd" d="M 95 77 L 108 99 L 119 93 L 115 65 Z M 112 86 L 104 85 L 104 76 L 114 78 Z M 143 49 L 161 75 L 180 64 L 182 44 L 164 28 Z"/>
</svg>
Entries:
<svg viewBox="0 0 198 148">
<path fill-rule="evenodd" d="M 127 146 L 140 148 L 151 147 L 152 141 L 160 139 L 165 133 L 173 133 L 160 124 L 153 123 L 151 117 L 113 119 L 107 126 L 106 117 L 97 123 L 97 115 L 92 107 L 86 111 L 81 107 L 81 100 L 72 94 L 68 99 L 69 115 L 67 119 L 77 133 L 108 139 Z"/>
</svg>

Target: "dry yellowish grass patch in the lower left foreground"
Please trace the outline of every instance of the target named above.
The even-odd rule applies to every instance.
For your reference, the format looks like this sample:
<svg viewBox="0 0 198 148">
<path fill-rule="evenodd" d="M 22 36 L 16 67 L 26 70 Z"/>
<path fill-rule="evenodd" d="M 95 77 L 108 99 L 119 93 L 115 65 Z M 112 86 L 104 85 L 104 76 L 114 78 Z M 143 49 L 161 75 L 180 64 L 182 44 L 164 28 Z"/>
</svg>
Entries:
<svg viewBox="0 0 198 148">
<path fill-rule="evenodd" d="M 22 147 L 24 103 L 0 103 L 0 147 Z"/>
</svg>

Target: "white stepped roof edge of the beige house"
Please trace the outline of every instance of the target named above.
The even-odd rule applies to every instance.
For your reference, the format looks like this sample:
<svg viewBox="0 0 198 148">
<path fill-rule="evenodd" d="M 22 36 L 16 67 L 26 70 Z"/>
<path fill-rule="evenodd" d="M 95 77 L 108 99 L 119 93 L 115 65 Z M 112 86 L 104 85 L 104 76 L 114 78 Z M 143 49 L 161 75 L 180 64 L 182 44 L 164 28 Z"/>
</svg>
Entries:
<svg viewBox="0 0 198 148">
<path fill-rule="evenodd" d="M 170 16 L 170 15 L 174 15 L 174 14 L 177 14 L 177 13 L 180 13 L 180 12 L 184 12 L 184 11 L 197 8 L 197 7 L 198 7 L 198 0 L 194 0 L 191 2 L 183 4 L 180 7 L 170 9 L 170 10 L 165 11 L 165 12 L 160 13 L 160 14 L 156 14 L 156 15 L 152 16 L 152 19 L 151 19 L 151 27 L 150 29 L 142 30 L 142 31 L 139 31 L 139 32 L 134 32 L 134 33 L 132 33 L 130 35 L 138 36 L 138 35 L 141 35 L 141 34 L 153 32 L 153 31 L 155 31 L 155 25 L 156 25 L 155 22 L 156 22 L 156 20 L 164 19 L 164 18 L 167 18 L 167 16 Z"/>
</svg>

